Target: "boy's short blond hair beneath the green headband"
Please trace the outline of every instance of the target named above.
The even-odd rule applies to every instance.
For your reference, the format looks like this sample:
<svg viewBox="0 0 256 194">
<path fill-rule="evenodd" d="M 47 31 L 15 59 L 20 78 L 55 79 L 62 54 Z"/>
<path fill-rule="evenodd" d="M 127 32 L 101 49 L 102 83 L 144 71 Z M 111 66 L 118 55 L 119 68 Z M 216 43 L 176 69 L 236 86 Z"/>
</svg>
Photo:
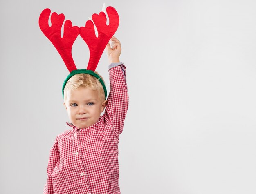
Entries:
<svg viewBox="0 0 256 194">
<path fill-rule="evenodd" d="M 99 75 L 96 71 L 95 74 Z M 100 75 L 99 75 L 100 76 Z M 103 78 L 100 76 L 101 80 Z M 104 82 L 104 80 L 103 80 Z M 104 82 L 105 84 L 105 82 Z M 64 88 L 64 100 L 67 97 L 67 91 L 78 89 L 79 87 L 90 88 L 98 92 L 99 99 L 103 102 L 105 100 L 105 93 L 103 86 L 101 85 L 98 78 L 90 74 L 75 74 L 66 83 Z"/>
</svg>

